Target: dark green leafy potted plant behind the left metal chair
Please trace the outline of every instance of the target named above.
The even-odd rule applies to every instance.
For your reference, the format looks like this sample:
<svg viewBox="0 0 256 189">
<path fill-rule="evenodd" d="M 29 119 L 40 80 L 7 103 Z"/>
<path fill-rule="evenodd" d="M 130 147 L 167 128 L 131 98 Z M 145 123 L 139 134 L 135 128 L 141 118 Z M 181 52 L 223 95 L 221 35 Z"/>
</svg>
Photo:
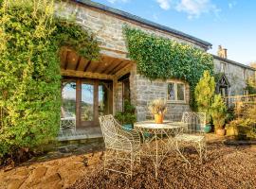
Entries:
<svg viewBox="0 0 256 189">
<path fill-rule="evenodd" d="M 123 129 L 131 130 L 137 120 L 135 114 L 136 108 L 129 100 L 124 100 L 123 112 L 117 112 L 115 117 L 122 125 Z"/>
</svg>

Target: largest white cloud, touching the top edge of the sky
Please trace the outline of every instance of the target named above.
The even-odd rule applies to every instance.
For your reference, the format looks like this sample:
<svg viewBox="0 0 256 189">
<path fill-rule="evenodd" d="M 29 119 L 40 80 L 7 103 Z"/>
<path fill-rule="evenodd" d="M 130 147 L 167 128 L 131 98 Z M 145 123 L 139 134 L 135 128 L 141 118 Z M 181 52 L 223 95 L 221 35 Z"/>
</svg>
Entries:
<svg viewBox="0 0 256 189">
<path fill-rule="evenodd" d="M 175 9 L 186 12 L 189 19 L 198 18 L 202 13 L 213 12 L 217 15 L 221 11 L 210 0 L 181 0 Z"/>
</svg>

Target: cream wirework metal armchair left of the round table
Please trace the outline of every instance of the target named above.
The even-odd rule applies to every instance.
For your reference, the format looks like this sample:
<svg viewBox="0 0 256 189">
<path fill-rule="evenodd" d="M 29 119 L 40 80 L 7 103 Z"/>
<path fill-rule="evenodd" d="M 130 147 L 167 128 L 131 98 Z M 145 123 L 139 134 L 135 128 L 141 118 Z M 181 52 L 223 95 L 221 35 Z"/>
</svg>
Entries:
<svg viewBox="0 0 256 189">
<path fill-rule="evenodd" d="M 99 119 L 105 143 L 104 172 L 110 170 L 132 177 L 135 161 L 140 163 L 139 133 L 122 129 L 111 114 Z"/>
</svg>

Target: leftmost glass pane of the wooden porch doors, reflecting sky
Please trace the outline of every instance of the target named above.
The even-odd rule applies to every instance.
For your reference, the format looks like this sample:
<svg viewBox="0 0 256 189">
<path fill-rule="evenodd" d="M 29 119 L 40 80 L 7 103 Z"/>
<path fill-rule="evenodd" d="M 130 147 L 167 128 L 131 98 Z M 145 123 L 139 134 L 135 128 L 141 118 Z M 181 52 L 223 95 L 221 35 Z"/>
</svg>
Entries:
<svg viewBox="0 0 256 189">
<path fill-rule="evenodd" d="M 64 81 L 62 87 L 62 118 L 76 117 L 76 82 Z"/>
</svg>

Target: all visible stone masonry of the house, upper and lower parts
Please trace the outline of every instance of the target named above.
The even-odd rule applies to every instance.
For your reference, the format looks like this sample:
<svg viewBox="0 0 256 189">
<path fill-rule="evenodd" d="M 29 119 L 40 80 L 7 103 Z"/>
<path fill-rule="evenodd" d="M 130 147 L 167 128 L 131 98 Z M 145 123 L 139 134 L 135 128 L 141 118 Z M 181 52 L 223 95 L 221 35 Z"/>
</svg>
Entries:
<svg viewBox="0 0 256 189">
<path fill-rule="evenodd" d="M 206 50 L 205 47 L 198 45 L 196 42 L 178 37 L 172 33 L 146 26 L 132 20 L 124 19 L 108 11 L 83 6 L 82 4 L 69 1 L 68 4 L 56 4 L 61 10 L 59 16 L 74 15 L 78 24 L 91 30 L 96 34 L 101 43 L 101 54 L 119 59 L 129 60 L 128 50 L 122 33 L 123 25 L 140 28 L 149 33 L 154 33 L 167 39 L 175 40 L 179 43 L 188 43 L 193 46 Z M 214 59 L 215 71 L 220 70 L 220 60 Z M 245 88 L 245 79 L 243 78 L 244 68 L 228 63 L 227 77 L 231 84 L 230 94 L 241 94 Z M 248 75 L 251 73 L 248 72 Z M 155 98 L 167 98 L 167 82 L 163 80 L 151 81 L 148 78 L 137 74 L 136 63 L 131 68 L 130 88 L 132 103 L 137 106 L 137 120 L 151 118 L 148 112 L 148 103 Z M 114 83 L 114 112 L 120 111 L 122 107 L 122 89 L 118 77 L 113 80 Z M 189 111 L 189 85 L 186 84 L 186 102 L 185 103 L 168 103 L 168 113 L 166 118 L 171 120 L 180 120 L 182 112 Z"/>
</svg>

